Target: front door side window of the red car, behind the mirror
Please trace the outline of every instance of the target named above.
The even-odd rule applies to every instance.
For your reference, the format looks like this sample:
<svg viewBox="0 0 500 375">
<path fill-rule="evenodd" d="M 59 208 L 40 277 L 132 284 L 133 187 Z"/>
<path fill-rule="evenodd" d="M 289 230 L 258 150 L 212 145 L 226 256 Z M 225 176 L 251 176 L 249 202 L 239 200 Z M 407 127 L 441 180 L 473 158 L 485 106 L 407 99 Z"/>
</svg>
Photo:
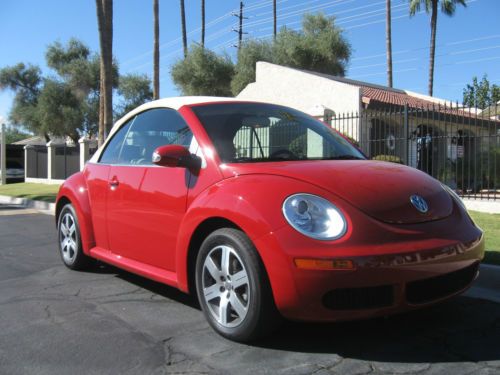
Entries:
<svg viewBox="0 0 500 375">
<path fill-rule="evenodd" d="M 120 164 L 150 165 L 159 146 L 178 144 L 189 147 L 193 133 L 173 109 L 152 109 L 137 115 L 126 133 Z"/>
</svg>

